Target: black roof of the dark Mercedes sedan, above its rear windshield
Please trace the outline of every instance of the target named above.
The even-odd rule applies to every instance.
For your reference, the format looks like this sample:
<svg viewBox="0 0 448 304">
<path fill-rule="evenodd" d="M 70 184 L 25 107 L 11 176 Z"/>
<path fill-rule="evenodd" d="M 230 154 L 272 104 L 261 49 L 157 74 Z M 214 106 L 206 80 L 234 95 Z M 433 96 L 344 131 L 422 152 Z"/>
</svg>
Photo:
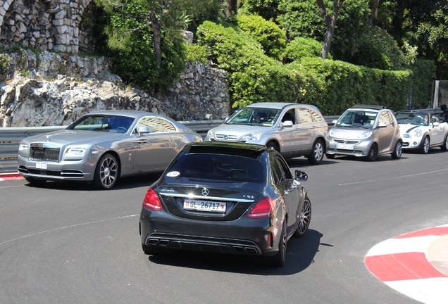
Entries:
<svg viewBox="0 0 448 304">
<path fill-rule="evenodd" d="M 234 156 L 246 156 L 258 158 L 263 152 L 270 151 L 263 145 L 242 144 L 224 141 L 194 142 L 186 146 L 188 153 L 228 154 Z M 274 151 L 274 150 L 272 150 Z"/>
</svg>

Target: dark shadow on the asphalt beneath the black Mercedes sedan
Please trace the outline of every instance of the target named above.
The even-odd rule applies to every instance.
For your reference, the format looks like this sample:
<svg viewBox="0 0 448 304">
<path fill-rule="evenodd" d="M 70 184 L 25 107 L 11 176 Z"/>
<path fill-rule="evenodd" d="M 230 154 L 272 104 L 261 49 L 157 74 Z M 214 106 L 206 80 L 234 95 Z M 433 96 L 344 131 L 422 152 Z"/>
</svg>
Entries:
<svg viewBox="0 0 448 304">
<path fill-rule="evenodd" d="M 175 251 L 170 255 L 150 255 L 149 261 L 178 267 L 197 268 L 220 272 L 258 275 L 290 275 L 305 270 L 314 262 L 322 234 L 309 229 L 304 237 L 288 242 L 286 263 L 281 268 L 268 267 L 258 257 L 196 251 Z"/>
</svg>

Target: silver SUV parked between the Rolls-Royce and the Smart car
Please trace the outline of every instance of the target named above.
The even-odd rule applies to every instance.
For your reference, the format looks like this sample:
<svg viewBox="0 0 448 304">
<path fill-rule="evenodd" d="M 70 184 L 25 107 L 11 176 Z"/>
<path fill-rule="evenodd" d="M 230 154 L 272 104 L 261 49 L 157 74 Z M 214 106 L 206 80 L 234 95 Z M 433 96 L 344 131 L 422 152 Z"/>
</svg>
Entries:
<svg viewBox="0 0 448 304">
<path fill-rule="evenodd" d="M 273 147 L 285 158 L 306 156 L 321 163 L 328 146 L 328 124 L 315 106 L 300 103 L 252 103 L 223 125 L 209 130 L 204 141 L 234 141 Z"/>
</svg>

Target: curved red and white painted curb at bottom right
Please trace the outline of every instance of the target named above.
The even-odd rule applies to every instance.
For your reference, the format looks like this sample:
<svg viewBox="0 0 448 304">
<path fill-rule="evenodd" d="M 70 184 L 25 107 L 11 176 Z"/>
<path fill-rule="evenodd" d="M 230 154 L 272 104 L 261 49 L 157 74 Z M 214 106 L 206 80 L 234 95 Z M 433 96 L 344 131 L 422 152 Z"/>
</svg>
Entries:
<svg viewBox="0 0 448 304">
<path fill-rule="evenodd" d="M 448 225 L 396 236 L 373 246 L 366 255 L 366 266 L 387 286 L 414 300 L 447 304 L 448 276 L 428 261 L 428 248 L 437 243 L 443 250 L 437 248 L 436 255 L 444 255 L 438 258 L 446 264 L 447 236 Z"/>
</svg>

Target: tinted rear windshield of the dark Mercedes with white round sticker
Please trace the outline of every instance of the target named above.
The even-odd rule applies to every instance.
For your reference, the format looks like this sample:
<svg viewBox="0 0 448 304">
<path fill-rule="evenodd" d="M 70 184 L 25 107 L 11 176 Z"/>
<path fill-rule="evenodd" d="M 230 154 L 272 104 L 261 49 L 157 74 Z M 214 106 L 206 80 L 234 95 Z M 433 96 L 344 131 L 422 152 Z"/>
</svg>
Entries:
<svg viewBox="0 0 448 304">
<path fill-rule="evenodd" d="M 252 183 L 262 183 L 264 175 L 261 161 L 254 158 L 204 153 L 185 154 L 166 171 L 166 177 Z"/>
</svg>

